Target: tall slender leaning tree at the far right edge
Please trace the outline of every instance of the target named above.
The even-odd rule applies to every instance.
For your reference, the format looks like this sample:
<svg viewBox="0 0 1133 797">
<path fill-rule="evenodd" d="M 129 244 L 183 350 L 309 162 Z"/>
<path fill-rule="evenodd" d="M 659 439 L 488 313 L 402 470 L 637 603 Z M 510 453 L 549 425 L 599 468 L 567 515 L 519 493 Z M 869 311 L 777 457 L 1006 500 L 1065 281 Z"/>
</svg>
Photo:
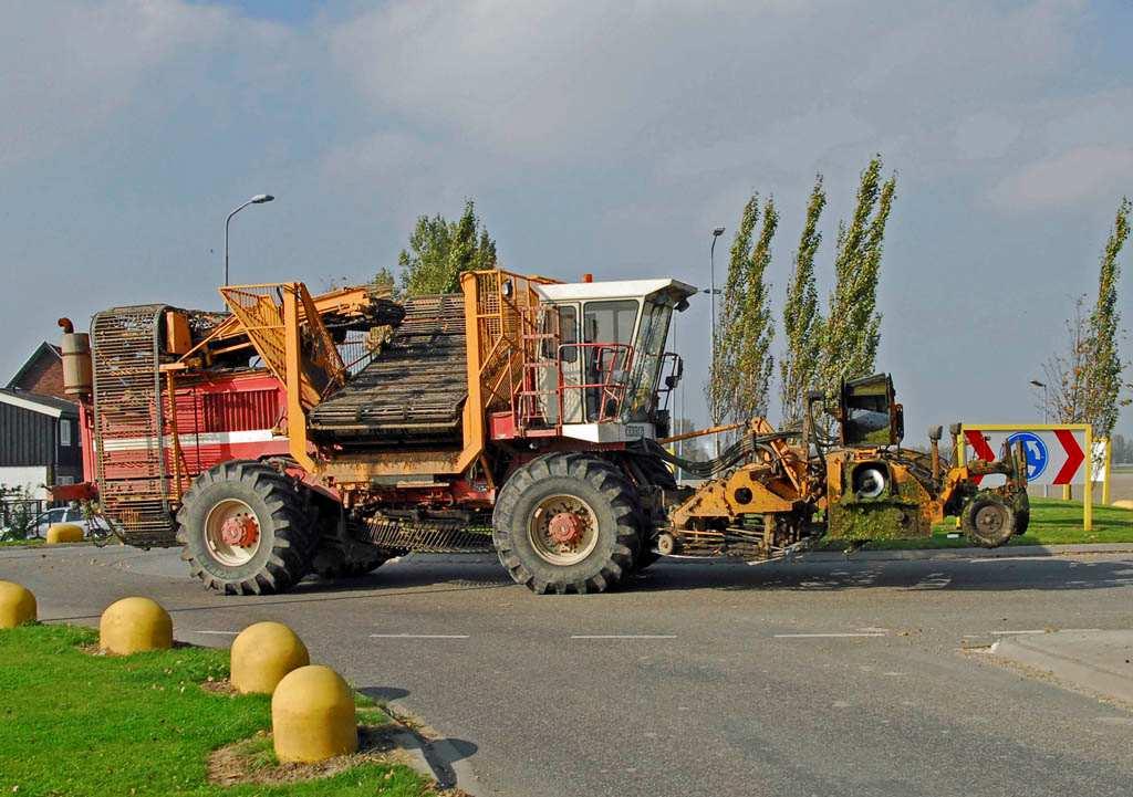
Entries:
<svg viewBox="0 0 1133 797">
<path fill-rule="evenodd" d="M 1119 408 L 1128 401 L 1122 400 L 1122 375 L 1125 362 L 1118 351 L 1121 335 L 1121 311 L 1117 301 L 1117 286 L 1121 281 L 1121 266 L 1117 256 L 1130 234 L 1130 200 L 1123 197 L 1117 206 L 1114 228 L 1109 232 L 1106 248 L 1101 254 L 1101 268 L 1098 275 L 1098 300 L 1090 314 L 1089 340 L 1090 357 L 1087 362 L 1087 383 L 1089 400 L 1087 402 L 1087 421 L 1093 426 L 1098 437 L 1109 437 L 1117 425 Z"/>
</svg>

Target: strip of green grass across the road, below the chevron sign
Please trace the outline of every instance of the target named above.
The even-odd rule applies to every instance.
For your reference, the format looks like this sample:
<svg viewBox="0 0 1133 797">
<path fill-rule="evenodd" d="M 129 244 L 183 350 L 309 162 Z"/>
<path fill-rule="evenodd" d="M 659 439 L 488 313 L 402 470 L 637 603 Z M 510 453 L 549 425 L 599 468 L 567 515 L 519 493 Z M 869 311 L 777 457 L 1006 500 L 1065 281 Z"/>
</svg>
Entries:
<svg viewBox="0 0 1133 797">
<path fill-rule="evenodd" d="M 960 532 L 955 519 L 948 519 L 932 529 L 932 537 L 912 540 L 878 540 L 866 550 L 912 550 L 920 548 L 969 548 L 961 532 L 960 538 L 947 534 Z M 1031 498 L 1031 522 L 1025 534 L 1012 538 L 1010 546 L 1063 546 L 1088 542 L 1133 542 L 1133 512 L 1111 506 L 1093 506 L 1093 530 L 1082 530 L 1082 502 L 1057 498 Z M 845 545 L 837 540 L 824 543 L 821 550 L 838 550 Z"/>
</svg>

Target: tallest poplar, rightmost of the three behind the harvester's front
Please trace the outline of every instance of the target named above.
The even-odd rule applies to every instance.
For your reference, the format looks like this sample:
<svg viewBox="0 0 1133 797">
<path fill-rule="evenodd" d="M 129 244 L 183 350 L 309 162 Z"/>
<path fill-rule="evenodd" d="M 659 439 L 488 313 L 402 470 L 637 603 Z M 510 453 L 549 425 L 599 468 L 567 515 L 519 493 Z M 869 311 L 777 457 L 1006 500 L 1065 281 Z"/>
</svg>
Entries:
<svg viewBox="0 0 1133 797">
<path fill-rule="evenodd" d="M 861 173 L 853 218 L 849 225 L 838 224 L 834 292 L 823 329 L 821 382 L 828 393 L 842 379 L 872 372 L 881 338 L 877 283 L 897 188 L 895 174 L 881 182 L 881 165 L 880 155 L 870 160 Z"/>
</svg>

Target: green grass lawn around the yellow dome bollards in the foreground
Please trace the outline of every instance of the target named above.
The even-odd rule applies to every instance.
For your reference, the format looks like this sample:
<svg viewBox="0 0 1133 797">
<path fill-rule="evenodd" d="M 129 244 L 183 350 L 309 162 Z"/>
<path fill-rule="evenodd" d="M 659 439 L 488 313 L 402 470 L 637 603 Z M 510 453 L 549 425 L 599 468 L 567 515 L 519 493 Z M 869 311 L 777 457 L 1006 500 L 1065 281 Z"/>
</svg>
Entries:
<svg viewBox="0 0 1133 797">
<path fill-rule="evenodd" d="M 432 794 L 412 770 L 383 763 L 286 786 L 213 786 L 208 754 L 269 728 L 270 699 L 201 688 L 210 676 L 228 677 L 228 651 L 179 648 L 111 658 L 79 649 L 96 641 L 94 631 L 73 626 L 0 631 L 0 794 Z M 274 763 L 270 749 L 264 755 Z"/>
</svg>

